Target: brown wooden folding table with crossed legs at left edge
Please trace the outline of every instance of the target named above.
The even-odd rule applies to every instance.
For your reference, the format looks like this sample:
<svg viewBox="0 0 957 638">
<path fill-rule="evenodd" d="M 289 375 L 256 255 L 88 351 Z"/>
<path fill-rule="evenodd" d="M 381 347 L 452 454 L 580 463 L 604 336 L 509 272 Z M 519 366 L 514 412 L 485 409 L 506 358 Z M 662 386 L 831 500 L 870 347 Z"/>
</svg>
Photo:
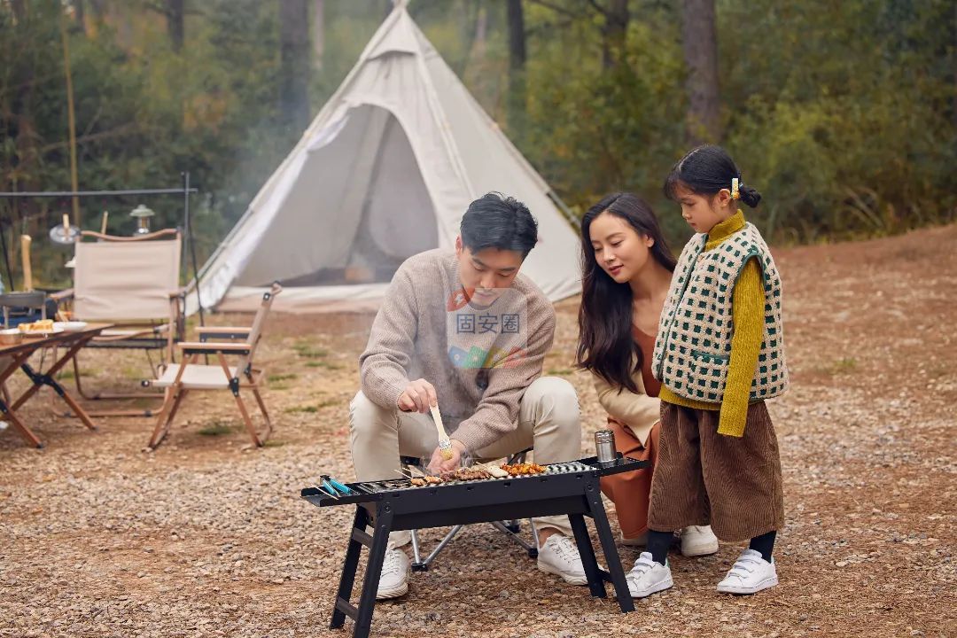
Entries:
<svg viewBox="0 0 957 638">
<path fill-rule="evenodd" d="M 0 345 L 0 386 L 3 386 L 11 375 L 16 372 L 17 368 L 20 368 L 24 373 L 30 378 L 33 384 L 24 392 L 16 401 L 12 402 L 10 405 L 7 404 L 2 398 L 0 398 L 0 419 L 7 421 L 13 426 L 13 429 L 16 429 L 20 436 L 23 437 L 23 440 L 26 441 L 29 445 L 35 448 L 42 448 L 43 443 L 36 437 L 36 435 L 28 428 L 16 415 L 16 411 L 23 406 L 27 401 L 33 397 L 34 394 L 42 387 L 43 385 L 49 385 L 54 388 L 56 394 L 59 395 L 63 401 L 73 410 L 80 421 L 83 422 L 83 425 L 89 429 L 97 429 L 93 425 L 93 422 L 90 421 L 90 417 L 86 414 L 82 407 L 79 406 L 77 401 L 71 397 L 67 391 L 63 388 L 62 385 L 56 382 L 54 378 L 56 373 L 59 372 L 67 363 L 70 363 L 74 357 L 77 356 L 77 353 L 80 348 L 82 348 L 88 341 L 100 335 L 100 333 L 109 328 L 110 324 L 108 323 L 91 323 L 87 325 L 82 330 L 70 331 L 70 332 L 60 332 L 46 337 L 24 337 L 23 341 L 19 343 L 14 343 L 11 345 Z M 33 366 L 30 363 L 27 363 L 30 358 L 33 356 L 33 353 L 42 350 L 43 348 L 63 348 L 65 353 L 60 356 L 56 361 L 44 372 L 43 370 L 34 370 Z"/>
</svg>

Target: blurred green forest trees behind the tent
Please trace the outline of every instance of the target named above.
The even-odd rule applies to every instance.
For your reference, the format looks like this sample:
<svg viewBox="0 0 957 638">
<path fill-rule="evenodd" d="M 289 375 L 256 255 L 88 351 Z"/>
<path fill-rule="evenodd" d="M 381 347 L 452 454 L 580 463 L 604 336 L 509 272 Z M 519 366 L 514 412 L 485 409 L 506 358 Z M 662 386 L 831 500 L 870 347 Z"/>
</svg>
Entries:
<svg viewBox="0 0 957 638">
<path fill-rule="evenodd" d="M 391 0 L 0 0 L 0 191 L 199 194 L 199 262 L 353 66 Z M 955 0 L 412 0 L 410 12 L 577 214 L 660 192 L 691 144 L 722 143 L 765 195 L 772 243 L 898 233 L 957 217 Z M 70 95 L 76 137 L 71 159 Z M 15 237 L 62 213 L 128 232 L 144 203 L 0 200 Z M 40 284 L 65 253 L 37 242 Z M 4 271 L 5 284 L 10 281 Z M 16 281 L 14 281 L 16 283 Z"/>
</svg>

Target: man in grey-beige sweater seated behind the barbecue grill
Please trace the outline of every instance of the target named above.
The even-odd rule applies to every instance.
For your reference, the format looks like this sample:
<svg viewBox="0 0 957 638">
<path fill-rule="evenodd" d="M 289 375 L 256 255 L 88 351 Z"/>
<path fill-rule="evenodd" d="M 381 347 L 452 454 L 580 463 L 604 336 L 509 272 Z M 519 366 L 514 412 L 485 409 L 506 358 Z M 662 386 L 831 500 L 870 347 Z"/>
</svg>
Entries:
<svg viewBox="0 0 957 638">
<path fill-rule="evenodd" d="M 410 257 L 398 269 L 359 358 L 362 389 L 349 406 L 356 478 L 396 478 L 399 455 L 424 456 L 451 471 L 463 457 L 497 459 L 534 447 L 535 461 L 579 457 L 581 424 L 574 388 L 542 377 L 555 311 L 519 269 L 538 240 L 538 224 L 515 199 L 489 193 L 462 217 L 456 250 Z M 452 443 L 443 458 L 430 414 L 441 410 Z M 586 584 L 568 517 L 533 521 L 538 567 Z M 379 599 L 409 590 L 410 563 L 393 533 Z"/>
</svg>

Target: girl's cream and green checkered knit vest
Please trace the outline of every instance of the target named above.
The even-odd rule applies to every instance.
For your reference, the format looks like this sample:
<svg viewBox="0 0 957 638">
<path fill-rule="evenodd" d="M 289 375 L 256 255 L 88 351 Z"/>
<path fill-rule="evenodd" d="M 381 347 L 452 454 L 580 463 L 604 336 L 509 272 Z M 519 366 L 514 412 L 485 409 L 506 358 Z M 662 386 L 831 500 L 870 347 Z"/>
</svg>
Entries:
<svg viewBox="0 0 957 638">
<path fill-rule="evenodd" d="M 731 295 L 746 261 L 757 256 L 765 284 L 765 337 L 750 401 L 788 389 L 781 325 L 781 276 L 768 244 L 752 224 L 704 252 L 707 235 L 684 247 L 658 325 L 652 371 L 679 397 L 721 403 L 731 354 L 734 322 Z"/>
</svg>

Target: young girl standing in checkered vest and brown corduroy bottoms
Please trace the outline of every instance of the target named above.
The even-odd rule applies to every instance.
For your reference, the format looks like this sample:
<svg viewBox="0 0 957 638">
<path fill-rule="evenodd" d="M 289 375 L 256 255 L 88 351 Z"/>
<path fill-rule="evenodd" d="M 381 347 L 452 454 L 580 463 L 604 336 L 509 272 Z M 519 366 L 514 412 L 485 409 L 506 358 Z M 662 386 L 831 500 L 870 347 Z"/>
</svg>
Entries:
<svg viewBox="0 0 957 638">
<path fill-rule="evenodd" d="M 777 437 L 764 404 L 788 388 L 781 277 L 738 209 L 738 200 L 754 208 L 761 195 L 723 148 L 685 155 L 664 191 L 697 234 L 681 252 L 658 326 L 658 460 L 648 547 L 629 585 L 638 598 L 672 586 L 669 530 L 710 522 L 720 539 L 750 539 L 718 591 L 753 594 L 778 582 L 771 550 L 784 524 Z"/>
</svg>

